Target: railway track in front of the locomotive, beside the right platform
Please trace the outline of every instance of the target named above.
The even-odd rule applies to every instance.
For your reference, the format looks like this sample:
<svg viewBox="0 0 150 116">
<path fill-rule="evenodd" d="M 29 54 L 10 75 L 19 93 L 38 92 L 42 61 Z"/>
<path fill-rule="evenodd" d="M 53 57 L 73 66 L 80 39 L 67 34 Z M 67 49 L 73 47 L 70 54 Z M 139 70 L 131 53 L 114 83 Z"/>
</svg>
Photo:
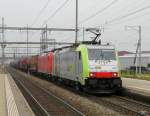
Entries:
<svg viewBox="0 0 150 116">
<path fill-rule="evenodd" d="M 75 91 L 73 88 L 65 87 L 59 85 L 63 88 L 66 88 L 69 91 L 73 91 L 76 94 L 79 94 L 83 97 L 88 98 L 89 100 L 96 102 L 102 106 L 110 108 L 120 114 L 129 115 L 129 116 L 150 116 L 150 105 L 145 103 L 128 99 L 126 97 L 111 95 L 111 96 L 96 96 L 90 95 L 83 92 Z M 43 86 L 44 87 L 44 86 Z M 82 115 L 82 113 L 79 115 Z"/>
</svg>

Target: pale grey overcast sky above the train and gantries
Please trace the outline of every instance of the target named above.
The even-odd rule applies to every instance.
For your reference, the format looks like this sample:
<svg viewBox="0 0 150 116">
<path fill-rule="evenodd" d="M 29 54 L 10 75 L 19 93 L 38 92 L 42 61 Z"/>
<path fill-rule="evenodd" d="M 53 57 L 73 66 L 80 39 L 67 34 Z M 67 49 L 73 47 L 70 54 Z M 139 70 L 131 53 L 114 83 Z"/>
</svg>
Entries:
<svg viewBox="0 0 150 116">
<path fill-rule="evenodd" d="M 7 26 L 42 27 L 47 23 L 48 27 L 74 28 L 75 0 L 0 0 L 2 16 Z M 83 39 L 82 27 L 103 26 L 103 42 L 135 51 L 138 32 L 125 26 L 138 25 L 142 26 L 142 50 L 150 50 L 150 0 L 79 0 L 79 40 Z M 86 35 L 85 40 L 90 40 L 92 35 Z M 75 37 L 73 32 L 52 32 L 49 38 L 74 42 Z M 26 35 L 7 31 L 5 39 L 26 41 Z M 39 40 L 40 32 L 30 32 L 30 41 Z"/>
</svg>

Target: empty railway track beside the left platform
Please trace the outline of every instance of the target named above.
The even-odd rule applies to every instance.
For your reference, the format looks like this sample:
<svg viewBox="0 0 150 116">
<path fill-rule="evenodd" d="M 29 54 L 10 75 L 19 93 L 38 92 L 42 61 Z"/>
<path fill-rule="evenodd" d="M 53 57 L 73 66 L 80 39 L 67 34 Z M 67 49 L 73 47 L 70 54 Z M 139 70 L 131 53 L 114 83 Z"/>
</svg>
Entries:
<svg viewBox="0 0 150 116">
<path fill-rule="evenodd" d="M 36 116 L 84 116 L 82 112 L 23 75 L 9 69 Z"/>
</svg>

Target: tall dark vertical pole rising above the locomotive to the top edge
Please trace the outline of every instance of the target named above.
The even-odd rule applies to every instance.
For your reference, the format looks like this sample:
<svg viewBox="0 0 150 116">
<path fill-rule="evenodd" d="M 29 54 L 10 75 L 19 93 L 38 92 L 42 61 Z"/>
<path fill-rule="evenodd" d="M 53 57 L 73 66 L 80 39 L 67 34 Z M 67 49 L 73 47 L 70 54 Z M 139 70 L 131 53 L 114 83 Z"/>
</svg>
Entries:
<svg viewBox="0 0 150 116">
<path fill-rule="evenodd" d="M 75 43 L 78 42 L 78 0 L 76 0 L 76 26 L 75 26 Z"/>
</svg>

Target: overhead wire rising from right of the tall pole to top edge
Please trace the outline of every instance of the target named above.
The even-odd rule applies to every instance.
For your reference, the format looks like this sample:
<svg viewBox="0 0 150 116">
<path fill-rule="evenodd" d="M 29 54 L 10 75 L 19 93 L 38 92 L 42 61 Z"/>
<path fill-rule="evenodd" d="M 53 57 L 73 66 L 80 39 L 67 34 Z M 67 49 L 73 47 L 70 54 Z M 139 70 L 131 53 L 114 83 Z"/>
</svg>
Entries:
<svg viewBox="0 0 150 116">
<path fill-rule="evenodd" d="M 92 19 L 93 17 L 97 16 L 98 14 L 102 13 L 103 11 L 105 11 L 106 9 L 108 9 L 109 7 L 111 7 L 116 2 L 118 2 L 118 0 L 113 0 L 110 4 L 106 5 L 103 9 L 100 9 L 99 11 L 97 11 L 96 13 L 92 14 L 91 16 L 87 17 L 86 19 L 82 20 L 79 23 L 82 24 L 82 23 L 84 23 L 84 22 Z"/>
</svg>

